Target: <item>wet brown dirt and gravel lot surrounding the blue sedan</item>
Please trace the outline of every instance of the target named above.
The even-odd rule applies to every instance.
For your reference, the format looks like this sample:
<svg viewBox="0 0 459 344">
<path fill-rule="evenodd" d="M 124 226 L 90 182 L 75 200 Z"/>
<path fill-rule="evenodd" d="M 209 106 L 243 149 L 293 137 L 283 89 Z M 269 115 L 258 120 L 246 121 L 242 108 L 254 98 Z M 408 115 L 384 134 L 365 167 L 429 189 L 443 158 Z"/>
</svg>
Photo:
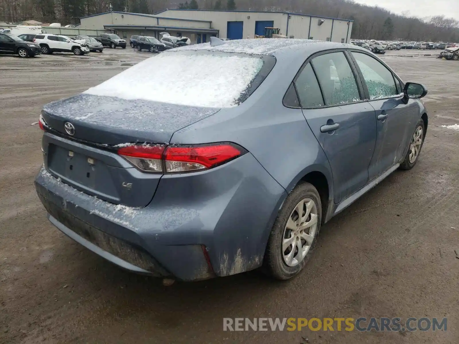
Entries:
<svg viewBox="0 0 459 344">
<path fill-rule="evenodd" d="M 382 56 L 430 90 L 420 161 L 323 226 L 306 271 L 287 283 L 249 272 L 172 287 L 68 239 L 33 185 L 41 131 L 30 124 L 41 107 L 151 54 L 0 56 L 0 343 L 458 343 L 459 131 L 442 125 L 459 123 L 459 63 L 439 51 Z M 313 316 L 448 317 L 448 330 L 223 331 L 223 317 Z"/>
</svg>

